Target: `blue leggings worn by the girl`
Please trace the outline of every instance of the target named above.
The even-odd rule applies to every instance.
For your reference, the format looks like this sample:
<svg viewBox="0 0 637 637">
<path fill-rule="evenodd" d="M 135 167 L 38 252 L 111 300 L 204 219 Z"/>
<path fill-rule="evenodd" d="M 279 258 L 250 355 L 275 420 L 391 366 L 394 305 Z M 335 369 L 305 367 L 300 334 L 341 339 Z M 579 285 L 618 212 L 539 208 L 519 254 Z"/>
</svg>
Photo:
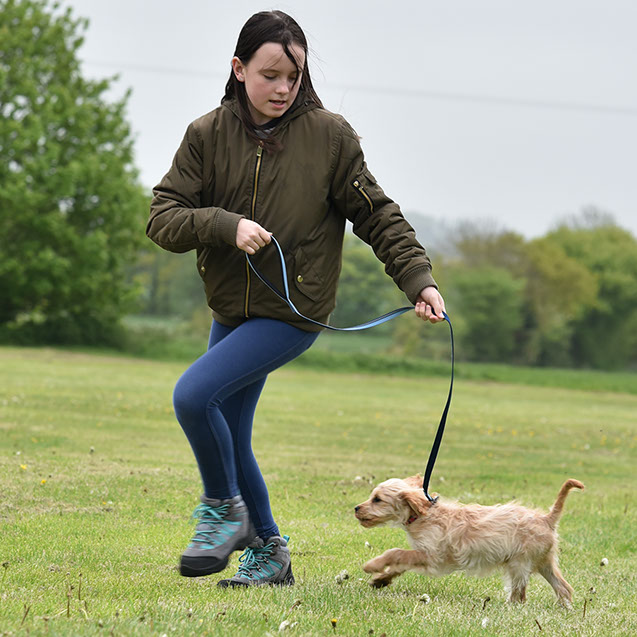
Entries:
<svg viewBox="0 0 637 637">
<path fill-rule="evenodd" d="M 238 327 L 213 322 L 208 351 L 175 386 L 173 403 L 209 498 L 241 494 L 260 537 L 278 535 L 268 490 L 252 452 L 252 422 L 267 375 L 318 336 L 272 319 Z"/>
</svg>

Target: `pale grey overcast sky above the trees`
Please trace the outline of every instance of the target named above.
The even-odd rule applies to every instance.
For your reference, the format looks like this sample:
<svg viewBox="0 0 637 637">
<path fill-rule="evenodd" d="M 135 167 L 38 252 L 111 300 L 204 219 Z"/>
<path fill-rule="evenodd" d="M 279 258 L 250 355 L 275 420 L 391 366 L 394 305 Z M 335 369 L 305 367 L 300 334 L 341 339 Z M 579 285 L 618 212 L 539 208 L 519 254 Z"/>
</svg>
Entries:
<svg viewBox="0 0 637 637">
<path fill-rule="evenodd" d="M 187 125 L 219 105 L 245 21 L 281 9 L 306 33 L 325 107 L 362 137 L 370 170 L 408 218 L 533 238 L 594 206 L 637 236 L 634 0 L 62 6 L 90 21 L 84 75 L 117 74 L 113 99 L 132 91 L 128 120 L 149 189 Z"/>
</svg>

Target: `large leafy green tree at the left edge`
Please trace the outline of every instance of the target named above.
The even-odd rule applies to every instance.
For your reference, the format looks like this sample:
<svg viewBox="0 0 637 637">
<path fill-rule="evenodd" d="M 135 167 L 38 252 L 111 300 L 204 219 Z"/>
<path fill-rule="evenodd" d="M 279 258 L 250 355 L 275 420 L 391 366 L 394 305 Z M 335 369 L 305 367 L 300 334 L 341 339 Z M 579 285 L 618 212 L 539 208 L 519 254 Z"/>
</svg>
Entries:
<svg viewBox="0 0 637 637">
<path fill-rule="evenodd" d="M 128 100 L 82 77 L 87 23 L 48 0 L 0 0 L 0 328 L 104 342 L 133 289 L 147 200 Z"/>
</svg>

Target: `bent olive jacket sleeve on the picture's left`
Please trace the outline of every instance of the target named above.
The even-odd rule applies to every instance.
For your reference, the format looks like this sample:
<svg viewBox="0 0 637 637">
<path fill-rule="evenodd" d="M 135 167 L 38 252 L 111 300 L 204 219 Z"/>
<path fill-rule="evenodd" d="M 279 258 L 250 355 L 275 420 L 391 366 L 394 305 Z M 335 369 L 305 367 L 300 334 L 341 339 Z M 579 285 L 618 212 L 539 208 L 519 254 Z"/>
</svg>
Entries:
<svg viewBox="0 0 637 637">
<path fill-rule="evenodd" d="M 171 252 L 187 252 L 224 243 L 234 246 L 243 215 L 202 207 L 203 141 L 190 124 L 172 166 L 153 189 L 146 234 Z"/>
</svg>

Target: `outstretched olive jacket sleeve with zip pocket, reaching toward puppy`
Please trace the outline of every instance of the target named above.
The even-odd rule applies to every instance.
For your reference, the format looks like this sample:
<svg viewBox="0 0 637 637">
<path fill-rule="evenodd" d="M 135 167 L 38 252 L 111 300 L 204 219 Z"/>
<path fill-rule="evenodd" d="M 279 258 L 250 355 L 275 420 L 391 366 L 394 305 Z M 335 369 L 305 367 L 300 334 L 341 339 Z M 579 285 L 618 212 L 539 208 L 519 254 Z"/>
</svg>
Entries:
<svg viewBox="0 0 637 637">
<path fill-rule="evenodd" d="M 331 197 L 353 224 L 354 234 L 368 243 L 385 272 L 415 303 L 420 291 L 438 287 L 431 262 L 416 240 L 416 232 L 398 205 L 383 192 L 367 169 L 358 135 L 341 118 L 341 138 L 336 145 Z"/>
</svg>

